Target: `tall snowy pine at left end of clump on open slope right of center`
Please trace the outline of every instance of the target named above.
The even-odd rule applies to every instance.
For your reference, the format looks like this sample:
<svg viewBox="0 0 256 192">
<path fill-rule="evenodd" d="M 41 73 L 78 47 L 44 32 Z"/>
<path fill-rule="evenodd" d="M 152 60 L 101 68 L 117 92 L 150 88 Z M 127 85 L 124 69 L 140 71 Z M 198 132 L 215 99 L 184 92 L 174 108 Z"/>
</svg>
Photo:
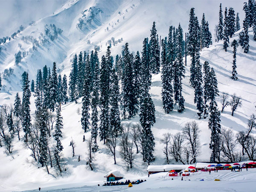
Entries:
<svg viewBox="0 0 256 192">
<path fill-rule="evenodd" d="M 163 109 L 169 114 L 173 110 L 173 89 L 172 89 L 172 77 L 171 74 L 171 66 L 168 62 L 167 56 L 167 40 L 166 38 L 162 40 L 162 101 L 163 101 Z"/>
</svg>

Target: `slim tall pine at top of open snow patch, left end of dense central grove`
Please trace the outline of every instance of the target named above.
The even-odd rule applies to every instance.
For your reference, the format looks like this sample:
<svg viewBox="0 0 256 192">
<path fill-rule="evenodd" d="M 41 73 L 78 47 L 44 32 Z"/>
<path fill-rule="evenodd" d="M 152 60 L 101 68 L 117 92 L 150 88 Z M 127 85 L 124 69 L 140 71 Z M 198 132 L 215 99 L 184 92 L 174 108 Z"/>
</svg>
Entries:
<svg viewBox="0 0 256 192">
<path fill-rule="evenodd" d="M 69 81 L 71 102 L 73 102 L 73 101 L 76 102 L 77 78 L 78 78 L 78 66 L 77 66 L 77 55 L 75 55 L 73 58 L 73 62 L 72 62 L 72 69 L 70 72 L 70 81 Z"/>
</svg>

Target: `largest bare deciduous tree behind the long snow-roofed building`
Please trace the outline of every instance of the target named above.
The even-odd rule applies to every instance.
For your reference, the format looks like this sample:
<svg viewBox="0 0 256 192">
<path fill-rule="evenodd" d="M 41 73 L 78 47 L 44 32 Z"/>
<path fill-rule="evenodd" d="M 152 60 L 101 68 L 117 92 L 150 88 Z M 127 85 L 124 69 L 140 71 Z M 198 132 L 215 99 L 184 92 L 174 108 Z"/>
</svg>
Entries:
<svg viewBox="0 0 256 192">
<path fill-rule="evenodd" d="M 201 130 L 198 127 L 198 124 L 195 121 L 187 122 L 185 127 L 182 129 L 182 134 L 184 135 L 184 138 L 186 139 L 188 145 L 186 149 L 187 151 L 190 151 L 190 157 L 192 158 L 190 160 L 190 164 L 193 162 L 196 162 L 196 157 L 198 156 L 200 152 L 200 141 L 199 141 L 199 134 Z M 186 157 L 188 155 L 186 154 Z M 187 163 L 188 163 L 188 158 Z"/>
</svg>

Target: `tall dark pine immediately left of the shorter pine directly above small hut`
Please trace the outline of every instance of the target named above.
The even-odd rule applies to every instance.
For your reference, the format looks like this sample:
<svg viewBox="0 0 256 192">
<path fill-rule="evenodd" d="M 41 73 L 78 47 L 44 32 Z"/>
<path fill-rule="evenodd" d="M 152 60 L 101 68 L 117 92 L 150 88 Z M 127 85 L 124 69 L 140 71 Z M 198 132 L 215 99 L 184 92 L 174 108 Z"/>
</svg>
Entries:
<svg viewBox="0 0 256 192">
<path fill-rule="evenodd" d="M 105 56 L 102 56 L 101 70 L 99 77 L 100 87 L 100 104 L 102 113 L 100 114 L 99 137 L 100 140 L 105 140 L 108 137 L 109 131 L 109 84 L 110 84 L 110 67 L 106 61 Z"/>
</svg>

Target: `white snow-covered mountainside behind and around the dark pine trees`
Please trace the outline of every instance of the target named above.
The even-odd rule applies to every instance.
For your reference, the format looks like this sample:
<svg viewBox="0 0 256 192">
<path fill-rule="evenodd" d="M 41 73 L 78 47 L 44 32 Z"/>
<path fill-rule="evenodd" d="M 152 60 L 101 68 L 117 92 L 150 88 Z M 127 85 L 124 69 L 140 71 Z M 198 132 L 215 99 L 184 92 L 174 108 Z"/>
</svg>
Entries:
<svg viewBox="0 0 256 192">
<path fill-rule="evenodd" d="M 32 79 L 35 80 L 38 69 L 42 69 L 44 65 L 52 68 L 52 63 L 56 61 L 58 73 L 61 74 L 61 76 L 66 74 L 68 77 L 71 69 L 71 59 L 74 54 L 79 54 L 80 51 L 90 51 L 94 49 L 95 46 L 99 46 L 100 58 L 105 54 L 107 49 L 106 44 L 112 37 L 115 38 L 116 41 L 122 38 L 122 41 L 111 47 L 111 55 L 113 57 L 115 57 L 116 54 L 121 53 L 122 46 L 124 46 L 126 42 L 129 43 L 129 49 L 132 52 L 136 52 L 137 50 L 141 52 L 143 39 L 149 37 L 153 21 L 156 21 L 157 34 L 161 35 L 162 38 L 168 35 L 170 25 L 178 26 L 180 23 L 184 32 L 187 32 L 189 10 L 191 7 L 195 7 L 195 14 L 198 16 L 199 20 L 201 20 L 203 12 L 205 13 L 206 19 L 209 22 L 209 28 L 213 34 L 214 27 L 218 24 L 219 3 L 222 3 L 223 7 L 232 6 L 236 12 L 240 13 L 240 23 L 242 22 L 244 12 L 242 11 L 243 1 L 240 0 L 222 2 L 218 0 L 67 1 L 59 9 L 55 10 L 54 14 L 51 13 L 49 16 L 36 20 L 35 24 L 31 26 L 25 26 L 25 29 L 20 32 L 17 37 L 11 41 L 7 41 L 6 44 L 1 45 L 0 72 L 3 73 L 4 70 L 9 69 L 10 67 L 14 69 L 14 72 L 13 74 L 6 76 L 5 79 L 2 78 L 2 84 L 6 87 L 1 88 L 0 105 L 13 104 L 17 92 L 22 97 L 22 92 L 20 92 L 20 80 L 21 74 L 24 71 L 29 73 L 30 81 Z M 80 26 L 78 26 L 79 20 L 83 20 L 83 23 L 80 23 Z M 62 29 L 63 32 L 58 34 L 58 38 L 46 42 L 43 45 L 41 39 L 44 39 L 46 36 L 45 29 L 48 28 L 52 31 L 50 24 L 55 24 L 55 26 Z M 238 41 L 239 32 L 240 31 L 236 32 L 235 35 L 230 38 L 230 42 L 234 39 Z M 43 33 L 43 35 L 41 35 L 41 33 Z M 32 36 L 32 41 L 23 41 L 23 36 Z M 256 106 L 256 41 L 253 41 L 252 28 L 249 28 L 249 37 L 250 51 L 248 53 L 244 53 L 241 46 L 238 47 L 237 81 L 233 81 L 230 78 L 232 76 L 233 62 L 233 48 L 231 46 L 228 47 L 227 52 L 225 52 L 223 49 L 223 41 L 215 43 L 215 38 L 212 38 L 213 44 L 200 52 L 201 63 L 208 61 L 210 67 L 213 67 L 215 70 L 220 93 L 227 93 L 230 96 L 233 93 L 236 93 L 237 96 L 241 96 L 242 98 L 242 106 L 235 111 L 234 116 L 231 116 L 230 106 L 225 108 L 224 112 L 221 113 L 222 127 L 233 128 L 236 132 L 246 130 L 247 121 L 250 118 L 250 115 L 255 112 Z M 37 50 L 30 51 L 29 49 L 32 49 L 34 39 L 39 42 L 39 45 L 35 46 L 34 43 Z M 18 44 L 21 44 L 21 48 L 18 47 Z M 6 49 L 6 51 L 4 49 Z M 19 52 L 19 50 L 21 52 L 26 51 L 28 54 L 25 58 L 21 59 L 18 66 L 15 66 L 14 55 Z M 190 57 L 187 57 L 187 61 L 185 78 L 182 81 L 183 96 L 185 99 L 185 111 L 183 113 L 178 113 L 177 110 L 170 114 L 164 112 L 161 97 L 161 74 L 159 73 L 152 76 L 150 94 L 156 110 L 156 123 L 152 128 L 156 143 L 156 160 L 152 164 L 155 165 L 161 165 L 165 162 L 165 156 L 162 151 L 163 144 L 160 143 L 162 135 L 164 133 L 175 134 L 180 131 L 187 122 L 192 120 L 195 120 L 201 129 L 201 154 L 197 160 L 209 161 L 211 153 L 209 149 L 211 132 L 208 128 L 208 118 L 198 119 L 196 105 L 194 104 L 194 89 L 189 84 Z M 55 170 L 52 168 L 50 169 L 51 174 L 48 175 L 45 168 L 41 168 L 41 165 L 35 163 L 32 157 L 30 157 L 31 151 L 24 147 L 23 141 L 18 141 L 17 137 L 15 137 L 13 142 L 14 152 L 12 155 L 7 156 L 4 153 L 5 148 L 0 148 L 0 191 L 6 192 L 37 189 L 38 186 L 44 186 L 44 188 L 56 186 L 55 189 L 81 187 L 87 185 L 84 182 L 88 182 L 88 186 L 93 185 L 92 188 L 89 188 L 88 190 L 86 189 L 87 191 L 95 191 L 98 189 L 94 188 L 94 186 L 98 183 L 102 184 L 103 180 L 105 180 L 103 176 L 113 169 L 119 169 L 126 178 L 144 178 L 148 180 L 148 178 L 145 178 L 147 172 L 141 154 L 135 154 L 133 169 L 127 172 L 120 154 L 116 154 L 117 164 L 114 165 L 113 157 L 107 153 L 103 142 L 98 142 L 99 150 L 95 154 L 96 160 L 94 171 L 92 172 L 88 169 L 88 166 L 86 165 L 88 152 L 87 142 L 83 142 L 83 136 L 85 136 L 85 140 L 88 141 L 91 135 L 91 129 L 89 129 L 87 133 L 84 133 L 84 130 L 81 128 L 81 112 L 79 114 L 77 113 L 78 109 L 81 111 L 81 100 L 81 98 L 78 100 L 78 104 L 70 102 L 67 105 L 61 106 L 61 115 L 63 116 L 64 125 L 61 143 L 64 146 L 63 157 L 67 171 L 64 172 L 62 176 L 59 176 L 55 174 Z M 35 113 L 34 96 L 31 96 L 30 102 L 31 115 L 33 116 Z M 217 97 L 217 102 L 219 110 L 221 110 L 220 96 Z M 122 122 L 138 123 L 140 122 L 140 117 L 137 115 L 132 119 L 122 120 Z M 252 133 L 256 134 L 256 131 L 253 130 Z M 72 139 L 77 145 L 75 148 L 75 157 L 72 157 L 72 148 L 69 146 Z M 50 142 L 53 142 L 52 140 Z M 119 147 L 117 150 L 119 150 Z M 80 162 L 78 162 L 79 156 L 81 158 Z M 255 172 L 252 172 L 250 175 L 246 175 L 243 172 L 243 175 L 236 175 L 237 177 L 234 177 L 230 172 L 224 172 L 219 178 L 221 178 L 221 180 L 234 180 L 234 183 L 249 180 L 248 182 L 251 184 L 255 182 L 255 180 L 251 179 L 255 177 L 255 174 Z M 162 178 L 163 176 L 163 174 L 158 174 L 154 175 L 152 178 L 150 177 L 148 181 L 152 181 L 152 183 L 150 183 L 149 186 L 145 186 L 148 185 L 149 182 L 142 183 L 140 185 L 144 186 L 137 188 L 137 190 L 145 191 L 148 187 L 154 191 L 154 189 L 159 188 L 160 186 L 163 187 L 163 191 L 168 189 L 166 180 Z M 204 191 L 207 186 L 215 185 L 215 183 L 212 183 L 213 181 L 209 181 L 215 179 L 215 177 L 208 177 L 208 175 L 203 175 L 202 173 L 196 175 L 194 180 L 206 177 L 208 178 L 207 182 L 204 184 L 194 183 L 193 186 L 202 185 L 201 191 Z M 169 179 L 167 180 L 170 181 Z M 63 186 L 64 183 L 72 184 L 69 184 L 66 187 Z M 241 187 L 237 183 L 234 185 L 229 183 L 230 191 Z M 156 184 L 156 186 L 154 186 L 154 184 Z M 174 186 L 175 189 L 178 189 L 179 185 L 182 185 L 182 183 L 177 181 Z M 221 185 L 223 185 L 223 183 Z M 187 189 L 190 187 L 191 186 L 187 186 Z M 49 188 L 49 191 L 54 191 L 55 189 Z M 133 188 L 129 190 L 132 189 Z M 219 184 L 216 186 L 216 190 L 217 189 L 222 190 Z M 86 191 L 82 188 L 79 190 Z M 101 188 L 99 190 L 105 189 Z M 114 190 L 119 191 L 123 189 L 115 188 Z M 76 189 L 72 189 L 72 191 L 76 191 Z M 241 189 L 241 191 L 243 191 L 243 189 Z M 250 190 L 248 189 L 248 191 Z"/>
</svg>

